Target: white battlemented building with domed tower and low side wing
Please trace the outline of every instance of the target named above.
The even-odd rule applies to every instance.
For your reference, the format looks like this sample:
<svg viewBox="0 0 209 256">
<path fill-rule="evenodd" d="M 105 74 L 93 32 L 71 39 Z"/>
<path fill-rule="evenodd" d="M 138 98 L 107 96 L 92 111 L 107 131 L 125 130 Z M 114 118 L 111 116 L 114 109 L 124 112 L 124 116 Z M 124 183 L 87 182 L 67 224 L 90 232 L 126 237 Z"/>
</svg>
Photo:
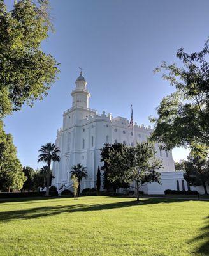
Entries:
<svg viewBox="0 0 209 256">
<path fill-rule="evenodd" d="M 98 166 L 103 166 L 100 159 L 100 149 L 108 143 L 124 143 L 133 145 L 132 128 L 129 121 L 124 117 L 116 117 L 105 111 L 101 115 L 89 108 L 90 93 L 87 90 L 87 82 L 80 72 L 76 79 L 76 88 L 71 92 L 73 106 L 64 111 L 62 128 L 57 131 L 55 141 L 61 150 L 61 161 L 53 164 L 52 185 L 61 192 L 71 189 L 70 171 L 71 166 L 81 163 L 87 167 L 88 177 L 81 183 L 81 191 L 84 188 L 96 186 L 96 173 Z M 144 125 L 134 124 L 134 141 L 147 140 L 152 129 Z M 171 151 L 161 151 L 155 145 L 157 157 L 162 160 L 163 169 L 160 170 L 162 185 L 157 183 L 148 184 L 140 188 L 148 194 L 164 194 L 165 189 L 187 190 L 187 183 L 182 172 L 175 172 L 174 161 Z M 63 186 L 64 185 L 64 186 Z M 62 189 L 61 189 L 62 188 Z M 195 188 L 196 189 L 196 188 Z"/>
</svg>

